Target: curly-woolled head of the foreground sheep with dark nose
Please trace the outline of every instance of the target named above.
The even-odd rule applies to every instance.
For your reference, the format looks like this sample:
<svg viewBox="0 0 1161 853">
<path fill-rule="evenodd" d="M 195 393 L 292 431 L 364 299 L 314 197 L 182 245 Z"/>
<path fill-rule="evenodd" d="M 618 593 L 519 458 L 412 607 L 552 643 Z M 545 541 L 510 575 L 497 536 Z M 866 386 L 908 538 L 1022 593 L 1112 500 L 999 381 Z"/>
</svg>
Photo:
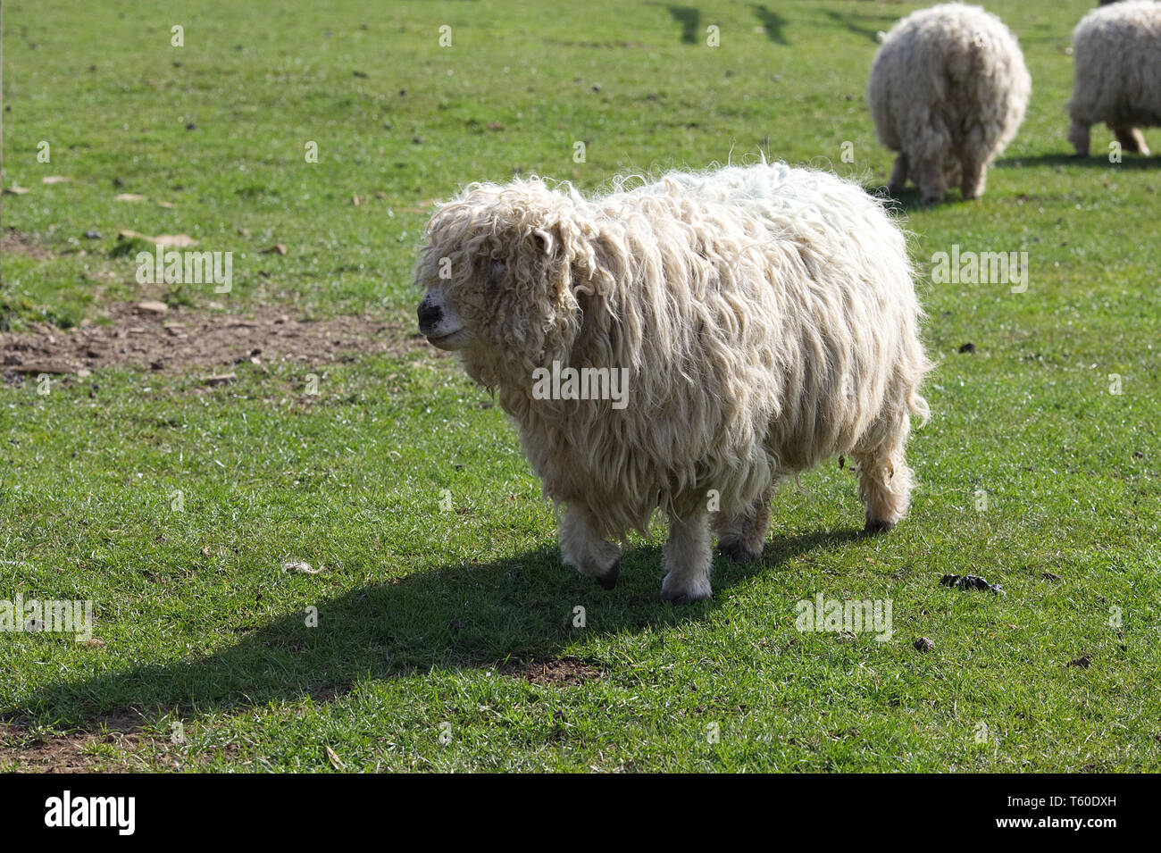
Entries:
<svg viewBox="0 0 1161 853">
<path fill-rule="evenodd" d="M 558 350 L 579 313 L 549 222 L 561 201 L 534 183 L 485 186 L 435 214 L 416 270 L 419 331 L 433 346 L 522 363 Z"/>
</svg>

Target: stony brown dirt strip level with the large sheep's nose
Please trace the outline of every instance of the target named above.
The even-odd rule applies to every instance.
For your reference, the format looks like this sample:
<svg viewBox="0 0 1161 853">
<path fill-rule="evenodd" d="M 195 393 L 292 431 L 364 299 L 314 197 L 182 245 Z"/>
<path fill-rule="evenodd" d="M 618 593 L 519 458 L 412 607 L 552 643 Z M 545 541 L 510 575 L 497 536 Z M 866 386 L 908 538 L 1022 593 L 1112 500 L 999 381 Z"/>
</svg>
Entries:
<svg viewBox="0 0 1161 853">
<path fill-rule="evenodd" d="M 336 317 L 295 318 L 287 306 L 265 306 L 246 316 L 135 304 L 113 305 L 109 323 L 70 330 L 39 325 L 0 333 L 5 383 L 21 375 L 80 374 L 122 366 L 156 371 L 217 371 L 241 362 L 295 361 L 326 364 L 359 355 L 398 355 L 427 345 L 401 320 Z"/>
</svg>

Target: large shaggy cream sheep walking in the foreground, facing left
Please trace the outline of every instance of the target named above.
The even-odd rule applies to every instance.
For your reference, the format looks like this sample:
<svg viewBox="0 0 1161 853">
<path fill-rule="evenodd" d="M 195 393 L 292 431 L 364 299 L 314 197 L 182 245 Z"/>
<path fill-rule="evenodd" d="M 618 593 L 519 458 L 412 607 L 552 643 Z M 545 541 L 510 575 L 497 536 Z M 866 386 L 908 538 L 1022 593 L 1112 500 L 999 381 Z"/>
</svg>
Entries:
<svg viewBox="0 0 1161 853">
<path fill-rule="evenodd" d="M 662 598 L 709 597 L 709 515 L 756 559 L 776 480 L 836 454 L 867 532 L 906 513 L 929 363 L 903 234 L 857 185 L 765 162 L 592 198 L 474 183 L 426 239 L 420 332 L 498 392 L 564 507 L 563 561 L 606 588 L 610 540 L 661 508 Z"/>
</svg>

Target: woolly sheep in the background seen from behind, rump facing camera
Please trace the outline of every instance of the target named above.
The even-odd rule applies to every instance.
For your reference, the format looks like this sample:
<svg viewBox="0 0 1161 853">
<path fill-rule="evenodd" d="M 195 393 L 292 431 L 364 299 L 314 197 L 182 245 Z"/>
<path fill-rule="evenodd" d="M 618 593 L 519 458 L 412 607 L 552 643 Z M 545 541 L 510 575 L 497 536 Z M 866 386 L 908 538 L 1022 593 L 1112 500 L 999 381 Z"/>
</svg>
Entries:
<svg viewBox="0 0 1161 853">
<path fill-rule="evenodd" d="M 995 15 L 945 3 L 904 17 L 882 39 L 867 87 L 879 140 L 899 152 L 888 191 L 911 175 L 925 204 L 956 183 L 965 198 L 983 195 L 1031 92 L 1019 44 Z"/>
</svg>

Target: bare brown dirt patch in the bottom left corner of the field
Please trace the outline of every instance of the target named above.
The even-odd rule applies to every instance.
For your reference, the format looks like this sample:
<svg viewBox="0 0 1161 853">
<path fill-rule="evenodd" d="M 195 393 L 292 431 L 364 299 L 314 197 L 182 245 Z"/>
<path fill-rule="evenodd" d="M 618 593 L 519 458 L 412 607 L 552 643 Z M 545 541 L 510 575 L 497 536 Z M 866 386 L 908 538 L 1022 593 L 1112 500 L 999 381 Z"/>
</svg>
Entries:
<svg viewBox="0 0 1161 853">
<path fill-rule="evenodd" d="M 98 744 L 113 744 L 136 752 L 143 742 L 158 738 L 142 731 L 139 714 L 125 711 L 102 718 L 98 731 L 82 731 L 31 739 L 27 729 L 0 729 L 0 767 L 15 764 L 19 773 L 117 773 L 136 769 L 103 754 L 92 754 Z"/>
</svg>

